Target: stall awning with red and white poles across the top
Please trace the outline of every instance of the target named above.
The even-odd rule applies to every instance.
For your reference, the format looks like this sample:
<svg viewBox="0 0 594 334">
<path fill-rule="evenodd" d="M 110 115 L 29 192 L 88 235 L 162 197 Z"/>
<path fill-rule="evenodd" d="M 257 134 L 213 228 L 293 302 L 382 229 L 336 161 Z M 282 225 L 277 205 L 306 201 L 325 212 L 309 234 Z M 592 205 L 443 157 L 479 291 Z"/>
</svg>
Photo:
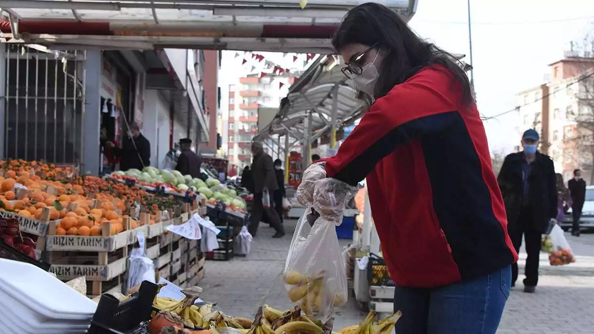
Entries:
<svg viewBox="0 0 594 334">
<path fill-rule="evenodd" d="M 418 0 L 380 0 L 409 20 Z M 353 0 L 0 0 L 3 33 L 52 48 L 331 53 Z"/>
</svg>

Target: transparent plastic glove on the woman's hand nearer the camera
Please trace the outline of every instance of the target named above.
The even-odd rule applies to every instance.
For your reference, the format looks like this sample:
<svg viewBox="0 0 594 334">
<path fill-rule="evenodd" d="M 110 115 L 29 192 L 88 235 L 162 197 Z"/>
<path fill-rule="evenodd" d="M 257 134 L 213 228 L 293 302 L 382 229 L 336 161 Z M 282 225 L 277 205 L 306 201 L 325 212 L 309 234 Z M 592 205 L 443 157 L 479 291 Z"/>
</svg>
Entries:
<svg viewBox="0 0 594 334">
<path fill-rule="evenodd" d="M 357 190 L 334 178 L 321 179 L 315 182 L 314 209 L 324 220 L 340 225 L 346 203 L 355 196 Z"/>
</svg>

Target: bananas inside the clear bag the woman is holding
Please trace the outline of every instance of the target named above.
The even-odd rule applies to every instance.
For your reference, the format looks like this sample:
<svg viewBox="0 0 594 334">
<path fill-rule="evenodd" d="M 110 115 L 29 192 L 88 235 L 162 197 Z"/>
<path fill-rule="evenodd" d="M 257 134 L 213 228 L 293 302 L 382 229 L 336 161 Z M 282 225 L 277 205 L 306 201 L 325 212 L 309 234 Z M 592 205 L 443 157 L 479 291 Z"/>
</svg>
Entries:
<svg viewBox="0 0 594 334">
<path fill-rule="evenodd" d="M 295 271 L 283 275 L 283 281 L 292 286 L 288 292 L 289 299 L 293 303 L 299 302 L 298 305 L 308 316 L 324 312 L 326 305 L 338 307 L 346 302 L 346 296 L 342 292 L 328 289 L 324 274 L 324 270 L 321 270 L 314 276 Z"/>
</svg>

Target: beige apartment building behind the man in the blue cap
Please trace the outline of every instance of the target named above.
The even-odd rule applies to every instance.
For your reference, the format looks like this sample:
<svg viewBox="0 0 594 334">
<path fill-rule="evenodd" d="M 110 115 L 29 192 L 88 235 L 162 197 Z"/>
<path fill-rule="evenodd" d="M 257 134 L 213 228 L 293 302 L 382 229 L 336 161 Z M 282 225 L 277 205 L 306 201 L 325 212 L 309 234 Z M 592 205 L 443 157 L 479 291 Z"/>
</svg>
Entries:
<svg viewBox="0 0 594 334">
<path fill-rule="evenodd" d="M 594 116 L 587 102 L 594 95 L 590 78 L 584 79 L 594 69 L 594 58 L 583 58 L 571 52 L 560 61 L 549 64 L 551 70 L 546 83 L 518 93 L 518 138 L 527 128 L 541 134 L 543 153 L 554 161 L 555 171 L 564 179 L 571 178 L 573 170 L 583 169 L 584 179 L 592 173 L 592 144 L 584 139 L 578 121 Z M 590 136 L 591 137 L 591 136 Z M 520 150 L 520 144 L 514 147 Z"/>
</svg>

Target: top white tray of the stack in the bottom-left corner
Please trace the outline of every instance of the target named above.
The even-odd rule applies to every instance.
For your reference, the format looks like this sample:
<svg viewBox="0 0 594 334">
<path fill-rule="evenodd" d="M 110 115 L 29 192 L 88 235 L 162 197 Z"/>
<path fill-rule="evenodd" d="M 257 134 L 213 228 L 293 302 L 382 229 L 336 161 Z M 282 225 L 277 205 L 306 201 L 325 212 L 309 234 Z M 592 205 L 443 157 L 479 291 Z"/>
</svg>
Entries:
<svg viewBox="0 0 594 334">
<path fill-rule="evenodd" d="M 40 316 L 87 320 L 97 304 L 33 264 L 0 259 L 0 290 Z"/>
</svg>

